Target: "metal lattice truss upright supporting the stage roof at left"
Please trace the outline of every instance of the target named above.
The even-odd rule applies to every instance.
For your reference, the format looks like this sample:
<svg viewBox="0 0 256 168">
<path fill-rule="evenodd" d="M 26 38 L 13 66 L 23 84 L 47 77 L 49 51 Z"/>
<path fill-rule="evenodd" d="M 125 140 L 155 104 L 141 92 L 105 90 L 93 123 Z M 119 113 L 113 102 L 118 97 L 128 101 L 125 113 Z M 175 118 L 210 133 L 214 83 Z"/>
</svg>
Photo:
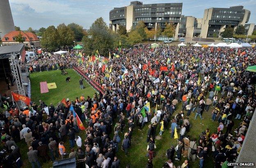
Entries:
<svg viewBox="0 0 256 168">
<path fill-rule="evenodd" d="M 21 66 L 19 65 L 18 55 L 20 55 L 19 52 L 11 53 L 11 57 L 9 58 L 9 61 L 11 65 L 11 71 L 13 72 L 13 75 L 15 76 L 15 79 L 16 79 L 18 94 L 25 96 L 25 90 L 22 85 Z M 21 105 L 25 106 L 25 103 L 21 101 Z"/>
</svg>

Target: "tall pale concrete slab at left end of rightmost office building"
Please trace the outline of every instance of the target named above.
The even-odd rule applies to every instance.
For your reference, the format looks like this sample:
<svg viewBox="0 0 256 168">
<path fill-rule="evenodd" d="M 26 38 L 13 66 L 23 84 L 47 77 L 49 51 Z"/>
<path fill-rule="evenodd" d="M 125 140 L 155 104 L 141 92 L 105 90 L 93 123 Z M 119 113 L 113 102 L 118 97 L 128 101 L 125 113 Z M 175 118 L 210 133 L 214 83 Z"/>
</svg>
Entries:
<svg viewBox="0 0 256 168">
<path fill-rule="evenodd" d="M 213 8 L 209 8 L 209 9 L 204 10 L 203 20 L 202 20 L 202 27 L 201 27 L 201 34 L 200 34 L 201 38 L 207 38 L 208 27 L 209 27 L 208 23 L 209 23 L 209 20 L 212 17 L 212 13 L 213 13 Z"/>
</svg>

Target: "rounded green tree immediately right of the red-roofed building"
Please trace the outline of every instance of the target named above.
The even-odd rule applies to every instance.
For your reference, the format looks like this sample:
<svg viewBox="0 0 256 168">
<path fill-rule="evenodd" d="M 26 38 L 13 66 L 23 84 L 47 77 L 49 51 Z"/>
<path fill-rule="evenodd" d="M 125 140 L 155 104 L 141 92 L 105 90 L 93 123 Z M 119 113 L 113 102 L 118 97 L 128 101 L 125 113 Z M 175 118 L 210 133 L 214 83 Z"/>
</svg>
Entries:
<svg viewBox="0 0 256 168">
<path fill-rule="evenodd" d="M 55 51 L 59 45 L 59 33 L 54 26 L 49 26 L 41 38 L 41 45 L 50 52 Z"/>
</svg>

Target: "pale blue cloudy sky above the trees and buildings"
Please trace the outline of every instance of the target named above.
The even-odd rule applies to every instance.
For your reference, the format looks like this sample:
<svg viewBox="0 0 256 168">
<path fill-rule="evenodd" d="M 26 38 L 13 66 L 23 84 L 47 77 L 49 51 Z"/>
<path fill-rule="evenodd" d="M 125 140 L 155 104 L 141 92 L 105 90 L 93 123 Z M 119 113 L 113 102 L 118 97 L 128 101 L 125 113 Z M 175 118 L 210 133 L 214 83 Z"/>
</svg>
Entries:
<svg viewBox="0 0 256 168">
<path fill-rule="evenodd" d="M 128 0 L 9 0 L 14 25 L 25 30 L 39 29 L 60 23 L 71 22 L 89 29 L 96 18 L 103 17 L 109 24 L 109 11 L 114 7 L 128 6 Z M 143 0 L 144 4 L 155 0 Z M 251 11 L 249 23 L 256 23 L 256 0 L 159 0 L 158 3 L 183 2 L 182 14 L 203 17 L 203 11 L 210 7 L 231 7 L 242 5 Z"/>
</svg>

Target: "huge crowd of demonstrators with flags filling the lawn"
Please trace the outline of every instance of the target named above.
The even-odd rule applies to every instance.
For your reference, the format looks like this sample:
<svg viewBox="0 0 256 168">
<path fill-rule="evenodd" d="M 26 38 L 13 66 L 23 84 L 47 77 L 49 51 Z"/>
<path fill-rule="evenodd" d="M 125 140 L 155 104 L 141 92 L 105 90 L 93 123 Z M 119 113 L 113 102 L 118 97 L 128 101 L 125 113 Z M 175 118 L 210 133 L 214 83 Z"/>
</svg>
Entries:
<svg viewBox="0 0 256 168">
<path fill-rule="evenodd" d="M 246 54 L 241 55 L 244 52 Z M 151 49 L 149 45 L 135 45 L 122 49 L 120 58 L 98 56 L 92 60 L 85 57 L 81 63 L 76 60 L 78 57 L 69 57 L 63 61 L 73 61 L 89 78 L 101 84 L 105 93 L 94 94 L 92 98 L 82 95 L 73 101 L 67 99 L 66 107 L 62 104 L 54 107 L 40 101 L 39 105 L 32 103 L 30 110 L 26 108 L 21 112 L 4 103 L 6 112 L 1 114 L 0 122 L 2 143 L 11 152 L 12 148 L 18 148 L 15 142 L 25 138 L 29 148 L 27 155 L 34 155 L 29 159 L 33 167 L 40 166 L 37 156 L 40 158 L 49 152 L 50 157 L 45 155 L 42 159 L 55 160 L 59 155 L 63 159 L 69 153 L 69 157 L 78 159 L 80 167 L 87 164 L 90 168 L 118 168 L 118 146 L 128 156 L 129 148 L 135 145 L 135 127 L 142 130 L 149 123 L 148 145 L 145 146 L 148 168 L 153 167 L 156 154 L 157 128 L 160 128 L 160 136 L 170 132 L 171 138 L 176 137 L 177 130 L 179 137 L 178 145 L 172 144 L 167 150 L 168 161 L 163 167 L 174 167 L 175 161 L 181 160 L 182 156 L 187 158 L 182 168 L 188 167 L 197 157 L 202 168 L 209 156 L 215 159 L 215 167 L 225 167 L 238 156 L 256 107 L 252 86 L 255 75 L 245 73 L 247 66 L 255 64 L 255 54 L 254 48 L 163 45 Z M 56 63 L 62 60 L 56 55 L 45 58 L 45 61 L 54 62 L 52 58 Z M 162 69 L 164 66 L 167 70 Z M 144 105 L 149 102 L 152 108 L 147 111 Z M 177 110 L 178 105 L 181 105 L 181 111 Z M 89 119 L 85 139 L 78 137 L 78 122 L 69 112 L 71 106 L 82 121 L 86 117 Z M 49 114 L 45 107 L 49 108 Z M 140 113 L 143 108 L 145 114 Z M 201 123 L 211 109 L 212 121 L 219 122 L 219 127 L 201 130 L 203 132 L 197 139 L 190 139 L 187 133 L 191 129 L 190 120 L 194 118 Z M 241 123 L 232 132 L 235 120 Z M 223 132 L 225 126 L 226 132 Z M 114 137 L 110 137 L 112 131 Z M 21 136 L 17 136 L 17 132 Z M 70 148 L 67 148 L 67 139 Z M 21 159 L 20 162 L 22 164 Z"/>
</svg>

